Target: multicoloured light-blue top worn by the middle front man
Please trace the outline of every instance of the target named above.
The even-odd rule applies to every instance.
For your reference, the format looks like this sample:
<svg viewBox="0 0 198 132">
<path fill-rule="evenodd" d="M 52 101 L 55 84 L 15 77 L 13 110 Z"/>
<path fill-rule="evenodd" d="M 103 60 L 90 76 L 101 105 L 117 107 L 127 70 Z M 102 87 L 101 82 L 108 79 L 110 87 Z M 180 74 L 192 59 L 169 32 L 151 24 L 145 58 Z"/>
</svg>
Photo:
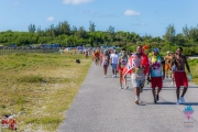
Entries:
<svg viewBox="0 0 198 132">
<path fill-rule="evenodd" d="M 162 77 L 162 57 L 152 57 L 151 62 L 151 77 Z"/>
</svg>

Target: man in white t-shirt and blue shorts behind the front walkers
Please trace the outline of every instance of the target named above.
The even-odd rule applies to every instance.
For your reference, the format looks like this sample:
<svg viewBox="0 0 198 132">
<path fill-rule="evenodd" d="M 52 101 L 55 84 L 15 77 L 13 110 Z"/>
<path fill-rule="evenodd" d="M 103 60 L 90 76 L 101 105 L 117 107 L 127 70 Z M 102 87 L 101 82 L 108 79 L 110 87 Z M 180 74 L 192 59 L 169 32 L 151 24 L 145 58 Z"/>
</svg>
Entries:
<svg viewBox="0 0 198 132">
<path fill-rule="evenodd" d="M 119 55 L 117 54 L 117 51 L 114 50 L 113 53 L 110 56 L 110 62 L 112 64 L 112 77 L 117 77 L 117 70 L 118 70 L 118 62 L 119 62 Z"/>
</svg>

